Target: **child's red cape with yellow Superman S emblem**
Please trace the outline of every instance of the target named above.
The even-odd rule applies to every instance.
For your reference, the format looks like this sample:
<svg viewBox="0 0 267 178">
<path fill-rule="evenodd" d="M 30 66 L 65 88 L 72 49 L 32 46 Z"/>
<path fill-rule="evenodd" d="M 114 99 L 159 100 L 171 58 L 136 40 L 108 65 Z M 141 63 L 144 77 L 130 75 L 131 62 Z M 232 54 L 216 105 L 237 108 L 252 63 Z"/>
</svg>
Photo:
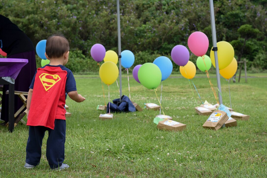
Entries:
<svg viewBox="0 0 267 178">
<path fill-rule="evenodd" d="M 65 119 L 66 76 L 67 71 L 60 67 L 46 66 L 37 69 L 27 125 L 54 129 L 58 115 L 61 117 L 58 119 Z"/>
</svg>

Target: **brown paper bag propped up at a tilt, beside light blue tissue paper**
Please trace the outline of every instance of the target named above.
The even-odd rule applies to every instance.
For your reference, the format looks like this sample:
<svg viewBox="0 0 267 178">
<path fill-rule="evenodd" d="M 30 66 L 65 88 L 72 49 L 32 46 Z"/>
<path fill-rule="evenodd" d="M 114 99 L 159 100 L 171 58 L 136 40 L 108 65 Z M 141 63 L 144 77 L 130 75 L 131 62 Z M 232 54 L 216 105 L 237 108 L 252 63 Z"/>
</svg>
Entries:
<svg viewBox="0 0 267 178">
<path fill-rule="evenodd" d="M 229 119 L 224 111 L 213 111 L 207 121 L 203 124 L 206 129 L 218 130 Z"/>
</svg>

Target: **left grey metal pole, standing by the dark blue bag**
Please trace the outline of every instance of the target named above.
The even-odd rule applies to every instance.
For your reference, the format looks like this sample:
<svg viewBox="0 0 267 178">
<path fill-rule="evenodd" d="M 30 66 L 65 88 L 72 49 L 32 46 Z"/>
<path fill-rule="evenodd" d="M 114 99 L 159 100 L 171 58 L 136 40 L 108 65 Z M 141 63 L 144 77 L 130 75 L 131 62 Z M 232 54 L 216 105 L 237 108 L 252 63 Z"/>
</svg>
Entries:
<svg viewBox="0 0 267 178">
<path fill-rule="evenodd" d="M 118 50 L 119 50 L 119 75 L 120 75 L 120 99 L 121 93 L 121 44 L 120 44 L 120 1 L 117 0 L 117 26 L 118 26 Z"/>
</svg>

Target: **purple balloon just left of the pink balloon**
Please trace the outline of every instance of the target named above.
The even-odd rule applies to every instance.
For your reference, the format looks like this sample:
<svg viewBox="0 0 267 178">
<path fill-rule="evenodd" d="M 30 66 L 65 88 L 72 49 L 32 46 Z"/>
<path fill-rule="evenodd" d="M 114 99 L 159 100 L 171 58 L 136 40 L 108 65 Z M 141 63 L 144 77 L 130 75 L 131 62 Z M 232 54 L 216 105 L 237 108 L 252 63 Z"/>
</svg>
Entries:
<svg viewBox="0 0 267 178">
<path fill-rule="evenodd" d="M 189 51 L 183 45 L 176 45 L 171 50 L 171 58 L 175 62 L 175 64 L 184 66 L 189 61 Z"/>
</svg>

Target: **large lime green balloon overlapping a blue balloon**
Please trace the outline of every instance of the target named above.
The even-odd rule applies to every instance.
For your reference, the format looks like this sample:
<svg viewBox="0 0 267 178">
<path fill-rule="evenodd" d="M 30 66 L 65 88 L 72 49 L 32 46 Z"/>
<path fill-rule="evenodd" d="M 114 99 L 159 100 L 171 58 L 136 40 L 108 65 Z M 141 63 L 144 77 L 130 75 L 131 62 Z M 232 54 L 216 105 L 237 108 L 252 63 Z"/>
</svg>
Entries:
<svg viewBox="0 0 267 178">
<path fill-rule="evenodd" d="M 161 82 L 161 77 L 159 67 L 153 63 L 145 63 L 138 70 L 140 83 L 148 89 L 157 88 Z"/>
</svg>

